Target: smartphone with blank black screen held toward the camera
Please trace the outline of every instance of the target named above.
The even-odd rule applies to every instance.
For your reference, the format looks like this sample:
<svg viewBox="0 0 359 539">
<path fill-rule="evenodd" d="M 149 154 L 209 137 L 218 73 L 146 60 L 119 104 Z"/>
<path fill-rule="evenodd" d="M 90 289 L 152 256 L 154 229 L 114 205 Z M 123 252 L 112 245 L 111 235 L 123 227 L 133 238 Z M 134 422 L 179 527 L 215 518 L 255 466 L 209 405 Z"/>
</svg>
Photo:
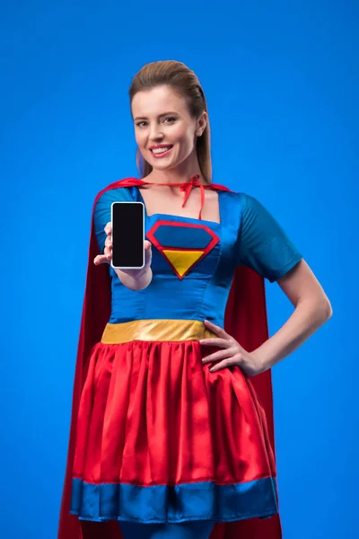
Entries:
<svg viewBox="0 0 359 539">
<path fill-rule="evenodd" d="M 144 203 L 113 202 L 112 266 L 118 270 L 144 268 Z"/>
</svg>

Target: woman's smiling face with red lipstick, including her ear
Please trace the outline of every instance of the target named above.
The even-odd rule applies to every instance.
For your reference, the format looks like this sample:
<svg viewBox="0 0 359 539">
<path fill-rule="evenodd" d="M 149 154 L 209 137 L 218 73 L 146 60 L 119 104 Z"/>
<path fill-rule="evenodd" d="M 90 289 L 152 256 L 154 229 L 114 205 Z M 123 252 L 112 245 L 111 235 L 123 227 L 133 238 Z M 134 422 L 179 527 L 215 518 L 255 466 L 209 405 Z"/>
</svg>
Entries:
<svg viewBox="0 0 359 539">
<path fill-rule="evenodd" d="M 132 115 L 136 143 L 153 169 L 172 169 L 196 155 L 195 141 L 206 128 L 206 112 L 193 119 L 185 99 L 170 86 L 137 92 Z"/>
</svg>

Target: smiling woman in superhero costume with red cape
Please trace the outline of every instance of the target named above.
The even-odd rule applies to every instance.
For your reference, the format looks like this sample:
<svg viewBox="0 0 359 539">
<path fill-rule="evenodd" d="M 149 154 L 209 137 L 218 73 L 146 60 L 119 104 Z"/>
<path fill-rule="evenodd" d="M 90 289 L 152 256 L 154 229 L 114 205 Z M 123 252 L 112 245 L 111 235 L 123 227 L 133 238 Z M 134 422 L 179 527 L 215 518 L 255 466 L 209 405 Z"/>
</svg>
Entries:
<svg viewBox="0 0 359 539">
<path fill-rule="evenodd" d="M 197 76 L 156 62 L 129 93 L 144 180 L 94 204 L 58 536 L 278 539 L 269 369 L 328 297 L 258 200 L 212 183 Z M 117 200 L 144 203 L 143 270 L 110 265 Z M 263 278 L 295 307 L 270 339 Z"/>
</svg>

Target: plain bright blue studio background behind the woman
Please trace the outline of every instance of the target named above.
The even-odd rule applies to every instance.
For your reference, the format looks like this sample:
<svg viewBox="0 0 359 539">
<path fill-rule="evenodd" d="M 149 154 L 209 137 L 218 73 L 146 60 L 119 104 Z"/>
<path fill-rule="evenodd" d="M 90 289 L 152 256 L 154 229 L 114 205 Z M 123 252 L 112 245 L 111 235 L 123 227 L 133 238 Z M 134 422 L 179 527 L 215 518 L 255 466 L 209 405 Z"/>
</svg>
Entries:
<svg viewBox="0 0 359 539">
<path fill-rule="evenodd" d="M 6 539 L 57 535 L 92 201 L 136 175 L 127 90 L 159 59 L 204 86 L 214 181 L 276 216 L 333 305 L 273 369 L 284 538 L 357 536 L 358 12 L 346 0 L 2 4 Z M 276 284 L 267 299 L 273 333 L 292 305 Z"/>
</svg>

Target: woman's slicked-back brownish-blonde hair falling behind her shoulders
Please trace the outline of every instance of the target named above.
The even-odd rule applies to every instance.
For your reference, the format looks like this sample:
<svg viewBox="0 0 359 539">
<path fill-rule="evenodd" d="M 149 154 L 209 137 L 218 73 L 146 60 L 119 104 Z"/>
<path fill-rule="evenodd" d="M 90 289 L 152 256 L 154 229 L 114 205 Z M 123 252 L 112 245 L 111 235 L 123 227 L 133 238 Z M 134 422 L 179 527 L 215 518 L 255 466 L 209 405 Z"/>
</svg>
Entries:
<svg viewBox="0 0 359 539">
<path fill-rule="evenodd" d="M 188 66 L 175 60 L 145 64 L 132 79 L 128 92 L 130 104 L 137 92 L 149 90 L 160 85 L 170 86 L 174 92 L 179 93 L 181 97 L 186 99 L 189 114 L 192 118 L 197 119 L 202 112 L 205 110 L 207 112 L 205 93 L 197 75 Z M 207 183 L 211 183 L 212 161 L 209 119 L 202 136 L 197 137 L 196 151 L 202 176 Z M 138 148 L 136 163 L 141 178 L 144 178 L 153 170 L 152 165 L 145 161 Z"/>
</svg>

